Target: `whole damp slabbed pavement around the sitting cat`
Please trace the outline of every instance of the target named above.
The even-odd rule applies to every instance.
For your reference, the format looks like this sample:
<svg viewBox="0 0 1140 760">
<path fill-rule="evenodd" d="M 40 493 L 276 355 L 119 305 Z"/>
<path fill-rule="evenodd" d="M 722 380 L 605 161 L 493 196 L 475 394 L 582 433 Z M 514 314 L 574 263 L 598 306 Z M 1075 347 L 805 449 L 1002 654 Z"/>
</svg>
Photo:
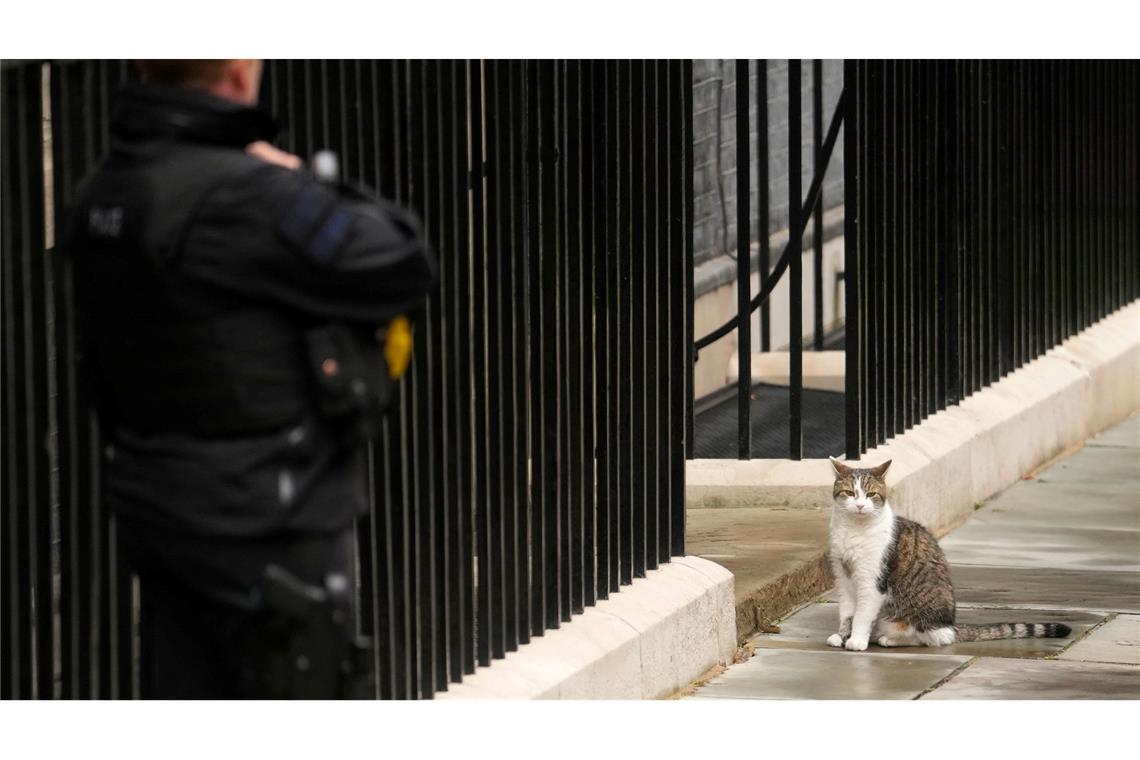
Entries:
<svg viewBox="0 0 1140 760">
<path fill-rule="evenodd" d="M 1140 415 L 985 502 L 942 546 L 961 622 L 1073 632 L 848 652 L 824 643 L 837 624 L 829 591 L 687 698 L 1140 698 Z"/>
</svg>

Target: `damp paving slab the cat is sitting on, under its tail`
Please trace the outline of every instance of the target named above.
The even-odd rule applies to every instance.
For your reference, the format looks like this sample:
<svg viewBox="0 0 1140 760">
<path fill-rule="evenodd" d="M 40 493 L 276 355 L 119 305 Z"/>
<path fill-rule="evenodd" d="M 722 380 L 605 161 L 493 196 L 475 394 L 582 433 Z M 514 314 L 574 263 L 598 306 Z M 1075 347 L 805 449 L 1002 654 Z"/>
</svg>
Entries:
<svg viewBox="0 0 1140 760">
<path fill-rule="evenodd" d="M 759 634 L 749 644 L 760 648 L 782 648 L 813 652 L 834 652 L 826 644 L 828 637 L 836 632 L 839 622 L 838 605 L 811 604 L 793 615 L 780 622 L 779 634 Z M 962 608 L 958 610 L 960 623 L 1050 623 L 1062 622 L 1073 629 L 1066 638 L 1024 638 L 996 641 L 967 641 L 953 646 L 898 646 L 879 647 L 872 644 L 870 649 L 895 656 L 962 654 L 968 656 L 992 657 L 1027 657 L 1040 659 L 1056 655 L 1066 646 L 1078 639 L 1086 630 L 1104 620 L 1104 615 L 1089 612 L 1069 612 L 1065 610 L 994 610 Z"/>
</svg>

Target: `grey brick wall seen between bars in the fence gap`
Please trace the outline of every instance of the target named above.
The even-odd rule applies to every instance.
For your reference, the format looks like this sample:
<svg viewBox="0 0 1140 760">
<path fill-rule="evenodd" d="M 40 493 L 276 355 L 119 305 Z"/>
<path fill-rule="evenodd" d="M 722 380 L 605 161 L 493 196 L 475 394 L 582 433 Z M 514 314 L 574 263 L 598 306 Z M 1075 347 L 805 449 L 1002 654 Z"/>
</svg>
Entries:
<svg viewBox="0 0 1140 760">
<path fill-rule="evenodd" d="M 756 177 L 756 77 L 757 62 L 749 67 L 749 124 L 751 129 L 751 239 L 757 239 Z M 768 60 L 768 232 L 788 227 L 788 62 Z M 812 62 L 801 65 L 801 155 L 803 188 L 807 193 L 812 175 L 814 142 L 812 137 Z M 823 132 L 826 134 L 831 114 L 842 90 L 842 60 L 823 62 Z M 719 99 L 720 133 L 717 137 L 717 100 Z M 719 150 L 718 150 L 719 146 Z M 717 154 L 719 153 L 719 170 Z M 823 186 L 824 209 L 842 204 L 844 163 L 842 132 L 828 166 Z M 736 65 L 731 59 L 693 62 L 693 194 L 695 196 L 693 247 L 700 264 L 736 248 Z M 723 198 L 723 201 L 722 201 Z"/>
</svg>

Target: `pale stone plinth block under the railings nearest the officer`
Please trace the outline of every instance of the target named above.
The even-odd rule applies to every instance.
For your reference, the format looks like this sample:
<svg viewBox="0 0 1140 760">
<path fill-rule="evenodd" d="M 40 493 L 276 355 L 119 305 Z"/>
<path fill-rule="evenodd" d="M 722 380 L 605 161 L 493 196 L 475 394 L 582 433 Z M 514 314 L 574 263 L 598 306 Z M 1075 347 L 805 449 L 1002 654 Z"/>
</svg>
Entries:
<svg viewBox="0 0 1140 760">
<path fill-rule="evenodd" d="M 659 698 L 732 661 L 733 578 L 674 557 L 437 698 Z"/>
</svg>

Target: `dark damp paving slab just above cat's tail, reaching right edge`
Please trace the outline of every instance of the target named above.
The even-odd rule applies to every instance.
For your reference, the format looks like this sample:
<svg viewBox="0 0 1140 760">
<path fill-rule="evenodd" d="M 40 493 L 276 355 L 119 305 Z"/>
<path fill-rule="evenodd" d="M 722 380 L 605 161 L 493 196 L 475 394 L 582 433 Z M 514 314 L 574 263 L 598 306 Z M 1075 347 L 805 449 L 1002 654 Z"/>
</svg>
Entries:
<svg viewBox="0 0 1140 760">
<path fill-rule="evenodd" d="M 1140 613 L 1140 573 L 951 565 L 959 605 Z"/>
</svg>

